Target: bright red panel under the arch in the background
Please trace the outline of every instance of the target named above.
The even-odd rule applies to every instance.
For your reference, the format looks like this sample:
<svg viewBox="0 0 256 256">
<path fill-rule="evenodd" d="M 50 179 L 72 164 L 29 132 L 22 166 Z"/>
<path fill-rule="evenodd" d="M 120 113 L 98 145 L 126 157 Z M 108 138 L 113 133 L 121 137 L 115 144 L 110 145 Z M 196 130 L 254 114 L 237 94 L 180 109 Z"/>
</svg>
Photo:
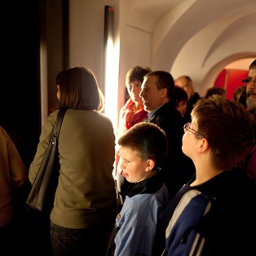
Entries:
<svg viewBox="0 0 256 256">
<path fill-rule="evenodd" d="M 214 86 L 227 90 L 227 99 L 233 99 L 237 87 L 242 86 L 242 79 L 248 76 L 248 70 L 223 69 L 214 82 Z"/>
</svg>

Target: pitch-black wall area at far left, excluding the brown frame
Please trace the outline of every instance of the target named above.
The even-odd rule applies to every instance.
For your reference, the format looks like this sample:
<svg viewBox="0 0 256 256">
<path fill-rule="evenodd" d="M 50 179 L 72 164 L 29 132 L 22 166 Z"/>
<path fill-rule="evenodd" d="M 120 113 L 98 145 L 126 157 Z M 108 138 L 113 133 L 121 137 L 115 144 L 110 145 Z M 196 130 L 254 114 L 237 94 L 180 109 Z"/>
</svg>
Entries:
<svg viewBox="0 0 256 256">
<path fill-rule="evenodd" d="M 38 1 L 10 1 L 2 9 L 7 20 L 2 22 L 0 124 L 16 143 L 24 141 L 30 157 L 41 129 L 38 7 Z"/>
</svg>

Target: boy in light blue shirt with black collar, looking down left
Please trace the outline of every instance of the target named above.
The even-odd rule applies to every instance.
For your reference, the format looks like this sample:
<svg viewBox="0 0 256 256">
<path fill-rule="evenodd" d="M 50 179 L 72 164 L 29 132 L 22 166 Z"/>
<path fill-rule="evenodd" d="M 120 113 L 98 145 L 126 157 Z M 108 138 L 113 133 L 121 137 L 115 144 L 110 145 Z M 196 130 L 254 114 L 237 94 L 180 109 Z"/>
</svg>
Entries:
<svg viewBox="0 0 256 256">
<path fill-rule="evenodd" d="M 118 140 L 120 168 L 130 183 L 117 214 L 106 255 L 154 255 L 156 228 L 162 210 L 170 200 L 159 173 L 167 155 L 166 134 L 153 123 L 140 122 Z"/>
</svg>

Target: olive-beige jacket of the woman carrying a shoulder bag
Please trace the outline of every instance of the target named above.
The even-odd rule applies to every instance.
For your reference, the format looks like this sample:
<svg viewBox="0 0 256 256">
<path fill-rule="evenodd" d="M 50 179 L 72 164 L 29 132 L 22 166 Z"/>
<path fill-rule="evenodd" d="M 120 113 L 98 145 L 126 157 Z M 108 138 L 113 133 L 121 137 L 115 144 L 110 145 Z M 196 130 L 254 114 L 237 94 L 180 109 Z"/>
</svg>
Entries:
<svg viewBox="0 0 256 256">
<path fill-rule="evenodd" d="M 33 183 L 51 138 L 58 111 L 42 127 L 29 168 Z M 94 227 L 113 218 L 117 196 L 113 179 L 115 137 L 103 113 L 68 109 L 60 129 L 60 177 L 51 221 L 61 227 Z M 58 171 L 58 170 L 57 170 Z"/>
</svg>

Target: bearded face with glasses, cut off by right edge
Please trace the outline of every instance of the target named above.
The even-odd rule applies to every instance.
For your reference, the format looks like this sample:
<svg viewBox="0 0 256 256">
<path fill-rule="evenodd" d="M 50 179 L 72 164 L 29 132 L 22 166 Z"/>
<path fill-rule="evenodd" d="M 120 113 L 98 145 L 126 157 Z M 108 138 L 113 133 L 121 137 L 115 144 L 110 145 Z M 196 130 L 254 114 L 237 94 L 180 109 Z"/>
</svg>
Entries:
<svg viewBox="0 0 256 256">
<path fill-rule="evenodd" d="M 249 69 L 248 78 L 251 82 L 246 88 L 246 104 L 249 108 L 256 108 L 256 68 Z"/>
</svg>

